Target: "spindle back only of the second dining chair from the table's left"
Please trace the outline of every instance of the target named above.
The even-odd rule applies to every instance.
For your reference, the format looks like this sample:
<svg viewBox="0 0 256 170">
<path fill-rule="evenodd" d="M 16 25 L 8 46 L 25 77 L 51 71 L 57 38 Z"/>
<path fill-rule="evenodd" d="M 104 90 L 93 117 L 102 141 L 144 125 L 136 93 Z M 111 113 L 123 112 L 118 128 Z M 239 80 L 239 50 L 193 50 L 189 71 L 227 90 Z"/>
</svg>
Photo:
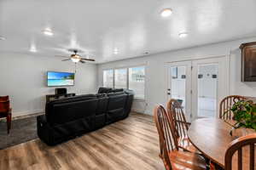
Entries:
<svg viewBox="0 0 256 170">
<path fill-rule="evenodd" d="M 183 112 L 183 108 L 180 102 L 177 99 L 170 99 L 167 103 L 168 115 L 173 118 L 174 127 L 176 132 L 176 137 L 186 138 L 187 132 L 189 129 L 188 122 Z"/>
</svg>

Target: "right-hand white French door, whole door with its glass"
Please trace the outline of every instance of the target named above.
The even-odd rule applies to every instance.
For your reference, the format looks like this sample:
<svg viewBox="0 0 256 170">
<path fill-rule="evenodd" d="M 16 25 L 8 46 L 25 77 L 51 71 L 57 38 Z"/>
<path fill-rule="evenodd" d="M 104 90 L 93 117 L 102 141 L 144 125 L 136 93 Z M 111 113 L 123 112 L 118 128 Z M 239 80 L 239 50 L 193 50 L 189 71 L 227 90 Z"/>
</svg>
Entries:
<svg viewBox="0 0 256 170">
<path fill-rule="evenodd" d="M 225 57 L 192 61 L 192 117 L 218 117 L 218 104 L 227 95 Z"/>
</svg>

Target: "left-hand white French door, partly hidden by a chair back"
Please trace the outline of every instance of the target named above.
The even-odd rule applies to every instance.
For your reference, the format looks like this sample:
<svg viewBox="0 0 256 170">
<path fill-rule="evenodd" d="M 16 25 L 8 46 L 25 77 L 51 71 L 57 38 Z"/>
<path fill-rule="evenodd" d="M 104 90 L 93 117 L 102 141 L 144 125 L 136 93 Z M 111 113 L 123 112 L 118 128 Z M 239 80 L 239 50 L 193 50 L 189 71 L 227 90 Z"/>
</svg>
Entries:
<svg viewBox="0 0 256 170">
<path fill-rule="evenodd" d="M 182 102 L 183 111 L 190 122 L 191 116 L 191 61 L 173 62 L 167 70 L 167 99 Z"/>
</svg>

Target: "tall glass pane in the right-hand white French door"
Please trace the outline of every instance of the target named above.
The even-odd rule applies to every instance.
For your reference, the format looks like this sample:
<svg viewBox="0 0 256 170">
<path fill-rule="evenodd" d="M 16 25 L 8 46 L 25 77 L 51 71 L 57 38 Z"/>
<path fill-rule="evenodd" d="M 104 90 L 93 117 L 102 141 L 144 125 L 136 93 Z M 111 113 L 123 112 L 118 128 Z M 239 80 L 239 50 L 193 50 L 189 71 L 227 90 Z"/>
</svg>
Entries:
<svg viewBox="0 0 256 170">
<path fill-rule="evenodd" d="M 198 66 L 198 116 L 214 117 L 217 109 L 218 65 Z"/>
</svg>

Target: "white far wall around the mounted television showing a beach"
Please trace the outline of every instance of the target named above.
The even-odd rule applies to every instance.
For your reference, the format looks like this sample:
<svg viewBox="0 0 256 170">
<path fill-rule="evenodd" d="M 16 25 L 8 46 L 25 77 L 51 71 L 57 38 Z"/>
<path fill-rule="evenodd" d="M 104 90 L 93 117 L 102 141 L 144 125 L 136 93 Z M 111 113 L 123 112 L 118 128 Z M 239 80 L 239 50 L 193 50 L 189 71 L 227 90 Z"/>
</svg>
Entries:
<svg viewBox="0 0 256 170">
<path fill-rule="evenodd" d="M 32 54 L 0 53 L 0 95 L 9 95 L 13 115 L 20 116 L 44 111 L 45 94 L 55 94 L 46 86 L 46 71 L 74 71 L 72 62 L 61 58 Z M 68 93 L 96 93 L 97 66 L 78 64 L 75 86 Z"/>
</svg>

